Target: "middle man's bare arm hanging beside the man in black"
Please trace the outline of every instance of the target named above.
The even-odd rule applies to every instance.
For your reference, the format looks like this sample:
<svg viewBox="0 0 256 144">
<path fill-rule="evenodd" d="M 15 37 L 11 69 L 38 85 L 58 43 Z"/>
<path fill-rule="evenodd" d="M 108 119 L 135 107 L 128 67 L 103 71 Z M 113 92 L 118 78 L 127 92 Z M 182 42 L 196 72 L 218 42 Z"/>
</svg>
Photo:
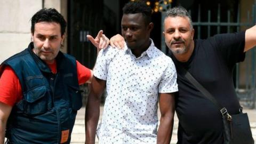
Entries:
<svg viewBox="0 0 256 144">
<path fill-rule="evenodd" d="M 169 144 L 171 141 L 175 110 L 174 102 L 174 93 L 159 93 L 161 118 L 157 133 L 157 144 Z"/>
</svg>

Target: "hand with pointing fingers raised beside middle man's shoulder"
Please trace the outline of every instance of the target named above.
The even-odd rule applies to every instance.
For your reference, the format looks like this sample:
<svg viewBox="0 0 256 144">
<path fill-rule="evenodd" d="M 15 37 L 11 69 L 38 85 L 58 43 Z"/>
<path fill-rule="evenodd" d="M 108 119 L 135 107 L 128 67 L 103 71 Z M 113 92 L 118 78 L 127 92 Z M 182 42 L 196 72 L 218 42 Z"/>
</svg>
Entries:
<svg viewBox="0 0 256 144">
<path fill-rule="evenodd" d="M 97 47 L 98 52 L 100 49 L 105 49 L 108 47 L 109 39 L 103 34 L 103 30 L 100 30 L 95 38 L 93 38 L 91 35 L 87 35 L 87 38 L 95 47 Z"/>
</svg>

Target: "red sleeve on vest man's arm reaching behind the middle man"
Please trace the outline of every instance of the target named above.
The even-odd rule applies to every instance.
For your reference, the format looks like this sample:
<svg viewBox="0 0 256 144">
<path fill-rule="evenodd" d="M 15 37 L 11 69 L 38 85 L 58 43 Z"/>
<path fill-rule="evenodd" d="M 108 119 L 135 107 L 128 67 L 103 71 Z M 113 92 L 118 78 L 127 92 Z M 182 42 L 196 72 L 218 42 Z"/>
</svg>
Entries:
<svg viewBox="0 0 256 144">
<path fill-rule="evenodd" d="M 83 66 L 80 62 L 76 61 L 77 78 L 79 85 L 87 82 L 91 77 L 91 70 Z"/>
</svg>

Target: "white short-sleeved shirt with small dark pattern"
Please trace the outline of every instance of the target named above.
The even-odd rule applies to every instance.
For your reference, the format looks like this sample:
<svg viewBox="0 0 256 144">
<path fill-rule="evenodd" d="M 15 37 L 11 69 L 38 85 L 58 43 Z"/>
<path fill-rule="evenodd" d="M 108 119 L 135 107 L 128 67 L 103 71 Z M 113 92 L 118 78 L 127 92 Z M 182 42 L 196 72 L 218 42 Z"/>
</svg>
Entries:
<svg viewBox="0 0 256 144">
<path fill-rule="evenodd" d="M 138 58 L 127 45 L 109 46 L 99 52 L 94 76 L 107 81 L 99 143 L 156 143 L 158 93 L 178 91 L 172 59 L 153 41 Z"/>
</svg>

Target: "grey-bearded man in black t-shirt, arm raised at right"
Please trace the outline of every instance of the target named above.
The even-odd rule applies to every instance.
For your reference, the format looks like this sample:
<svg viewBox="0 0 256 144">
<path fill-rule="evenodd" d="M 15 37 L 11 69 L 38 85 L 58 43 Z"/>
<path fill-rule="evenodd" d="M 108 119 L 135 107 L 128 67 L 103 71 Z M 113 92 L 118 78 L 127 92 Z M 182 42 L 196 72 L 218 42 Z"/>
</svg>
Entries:
<svg viewBox="0 0 256 144">
<path fill-rule="evenodd" d="M 174 7 L 166 14 L 163 34 L 178 73 L 179 92 L 175 97 L 179 118 L 178 143 L 222 144 L 222 115 L 218 107 L 181 74 L 180 67 L 189 71 L 227 108 L 229 114 L 238 114 L 233 68 L 237 62 L 244 60 L 245 52 L 256 45 L 256 26 L 235 34 L 194 40 L 191 17 L 186 9 Z M 116 35 L 110 39 L 110 44 L 122 47 L 122 39 Z"/>
</svg>

